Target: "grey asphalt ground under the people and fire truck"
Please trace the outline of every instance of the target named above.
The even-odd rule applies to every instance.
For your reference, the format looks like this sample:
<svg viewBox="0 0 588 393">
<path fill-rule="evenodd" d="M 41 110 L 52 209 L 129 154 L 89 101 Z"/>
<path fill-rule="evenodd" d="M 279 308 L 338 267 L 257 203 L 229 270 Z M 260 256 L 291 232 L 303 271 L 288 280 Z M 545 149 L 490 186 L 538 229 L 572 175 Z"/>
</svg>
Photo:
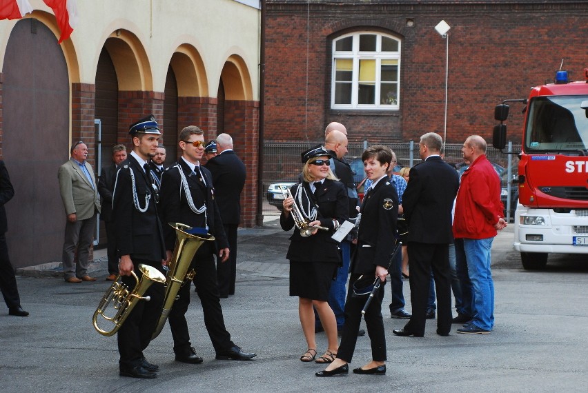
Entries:
<svg viewBox="0 0 588 393">
<path fill-rule="evenodd" d="M 275 221 L 239 230 L 237 293 L 223 299 L 228 330 L 253 361 L 216 361 L 192 292 L 188 321 L 201 365 L 173 361 L 166 327 L 146 350 L 159 364 L 156 380 L 118 376 L 115 337 L 92 328 L 91 318 L 108 288 L 104 251 L 92 268 L 95 283 L 68 284 L 61 277 L 19 276 L 28 318 L 0 312 L 0 390 L 3 392 L 575 392 L 586 391 L 588 264 L 579 258 L 549 260 L 545 272 L 526 272 L 511 248 L 512 232 L 493 245 L 496 328 L 492 334 L 440 337 L 427 321 L 424 338 L 391 334 L 404 321 L 388 318 L 386 376 L 318 379 L 321 365 L 302 363 L 306 350 L 297 299 L 288 296 L 288 233 Z M 389 288 L 386 288 L 389 290 Z M 410 290 L 404 288 L 410 310 Z M 386 294 L 389 301 L 389 294 Z M 319 350 L 326 347 L 318 335 Z M 353 367 L 370 359 L 369 339 L 357 341 Z"/>
</svg>

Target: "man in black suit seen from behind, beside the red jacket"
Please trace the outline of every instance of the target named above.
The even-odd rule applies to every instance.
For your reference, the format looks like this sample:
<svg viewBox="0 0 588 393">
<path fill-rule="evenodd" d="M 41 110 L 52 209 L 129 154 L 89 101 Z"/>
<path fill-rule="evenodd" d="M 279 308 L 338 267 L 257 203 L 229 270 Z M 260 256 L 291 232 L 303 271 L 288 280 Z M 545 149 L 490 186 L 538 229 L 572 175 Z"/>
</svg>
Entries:
<svg viewBox="0 0 588 393">
<path fill-rule="evenodd" d="M 404 218 L 410 228 L 407 241 L 413 316 L 403 329 L 393 330 L 397 336 L 424 335 L 431 268 L 437 292 L 437 334 L 449 336 L 451 330 L 451 209 L 460 181 L 458 173 L 441 159 L 442 145 L 441 137 L 434 132 L 420 138 L 423 162 L 411 169 L 411 180 L 402 196 Z"/>
</svg>

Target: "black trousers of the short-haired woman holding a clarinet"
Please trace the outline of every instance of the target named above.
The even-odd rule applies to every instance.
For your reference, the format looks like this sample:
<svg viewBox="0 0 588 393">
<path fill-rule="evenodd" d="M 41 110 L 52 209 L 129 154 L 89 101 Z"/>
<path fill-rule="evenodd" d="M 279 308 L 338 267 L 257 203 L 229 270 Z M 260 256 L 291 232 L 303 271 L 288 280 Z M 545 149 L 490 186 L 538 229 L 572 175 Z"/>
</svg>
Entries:
<svg viewBox="0 0 588 393">
<path fill-rule="evenodd" d="M 375 279 L 375 274 L 373 275 Z M 353 296 L 353 283 L 357 281 L 360 274 L 351 274 L 349 278 L 349 288 L 347 288 L 347 300 L 345 302 L 345 325 L 341 344 L 337 352 L 337 358 L 351 363 L 353 352 L 355 352 L 355 343 L 357 343 L 357 332 L 360 330 L 362 321 L 362 310 L 366 303 L 367 297 Z M 374 361 L 386 361 L 386 334 L 384 332 L 384 321 L 382 320 L 382 300 L 384 299 L 384 285 L 380 285 L 380 290 L 373 296 L 364 319 L 366 328 L 371 342 L 371 357 Z"/>
</svg>

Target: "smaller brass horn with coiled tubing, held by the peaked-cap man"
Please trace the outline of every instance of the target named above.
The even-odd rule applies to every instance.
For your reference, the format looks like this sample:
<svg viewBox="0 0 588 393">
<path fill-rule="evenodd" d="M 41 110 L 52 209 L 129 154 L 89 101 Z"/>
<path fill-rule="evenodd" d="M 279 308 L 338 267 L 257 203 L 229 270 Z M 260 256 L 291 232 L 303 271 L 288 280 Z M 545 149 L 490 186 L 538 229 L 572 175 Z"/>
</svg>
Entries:
<svg viewBox="0 0 588 393">
<path fill-rule="evenodd" d="M 94 322 L 94 328 L 103 336 L 112 336 L 118 332 L 126 320 L 128 314 L 130 314 L 133 308 L 135 308 L 135 305 L 137 305 L 137 302 L 141 300 L 151 300 L 150 296 L 143 296 L 151 284 L 163 284 L 166 282 L 164 275 L 161 274 L 161 272 L 159 272 L 159 270 L 156 268 L 153 268 L 153 266 L 141 264 L 139 265 L 139 270 L 141 270 L 141 273 L 143 273 L 143 276 L 141 276 L 141 281 L 139 281 L 139 278 L 135 272 L 130 272 L 137 281 L 135 288 L 133 288 L 133 292 L 130 292 L 128 286 L 126 286 L 122 281 L 119 282 L 121 276 L 118 276 L 115 282 L 110 285 L 110 288 L 108 288 L 104 296 L 102 296 L 102 300 L 98 304 L 98 308 L 94 312 L 94 316 L 92 316 L 92 321 Z M 110 308 L 110 303 L 112 303 L 112 309 L 115 313 L 113 316 L 106 315 L 106 310 Z M 110 321 L 114 324 L 112 330 L 103 330 L 98 326 L 99 315 L 106 319 L 106 321 Z"/>
</svg>

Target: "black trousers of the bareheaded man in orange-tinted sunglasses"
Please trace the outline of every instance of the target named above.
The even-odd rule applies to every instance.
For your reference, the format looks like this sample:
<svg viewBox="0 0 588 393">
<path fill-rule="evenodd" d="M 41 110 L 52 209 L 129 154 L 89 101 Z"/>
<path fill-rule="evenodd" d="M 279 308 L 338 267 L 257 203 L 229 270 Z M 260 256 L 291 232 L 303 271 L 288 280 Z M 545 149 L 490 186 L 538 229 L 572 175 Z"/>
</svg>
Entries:
<svg viewBox="0 0 588 393">
<path fill-rule="evenodd" d="M 206 242 L 201 246 L 201 250 L 198 250 L 192 262 L 196 271 L 193 282 L 196 286 L 200 303 L 202 303 L 204 325 L 208 331 L 208 336 L 210 336 L 210 341 L 212 341 L 216 352 L 222 352 L 235 344 L 231 341 L 231 334 L 226 331 L 224 325 L 213 247 L 208 243 Z M 190 281 L 184 282 L 178 295 L 179 299 L 176 299 L 173 303 L 168 320 L 173 336 L 174 352 L 183 354 L 191 346 L 190 332 L 188 332 L 188 322 L 186 321 L 186 311 L 188 311 L 188 305 L 190 304 Z"/>
</svg>

